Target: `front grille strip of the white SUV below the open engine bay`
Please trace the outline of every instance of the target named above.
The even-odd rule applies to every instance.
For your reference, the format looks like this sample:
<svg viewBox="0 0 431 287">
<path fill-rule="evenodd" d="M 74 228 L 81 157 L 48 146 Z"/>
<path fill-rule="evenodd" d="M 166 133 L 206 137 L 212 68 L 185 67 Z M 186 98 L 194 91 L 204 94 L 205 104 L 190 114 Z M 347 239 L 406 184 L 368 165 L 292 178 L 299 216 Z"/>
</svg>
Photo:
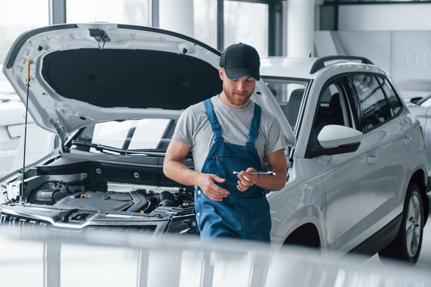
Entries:
<svg viewBox="0 0 431 287">
<path fill-rule="evenodd" d="M 83 229 L 69 229 L 65 227 L 54 227 L 54 225 L 45 220 L 28 218 L 25 216 L 16 216 L 2 212 L 0 214 L 0 227 L 21 227 L 29 231 L 51 229 L 72 232 L 112 231 L 122 233 L 154 233 L 154 231 L 156 231 L 157 225 L 88 225 Z"/>
</svg>

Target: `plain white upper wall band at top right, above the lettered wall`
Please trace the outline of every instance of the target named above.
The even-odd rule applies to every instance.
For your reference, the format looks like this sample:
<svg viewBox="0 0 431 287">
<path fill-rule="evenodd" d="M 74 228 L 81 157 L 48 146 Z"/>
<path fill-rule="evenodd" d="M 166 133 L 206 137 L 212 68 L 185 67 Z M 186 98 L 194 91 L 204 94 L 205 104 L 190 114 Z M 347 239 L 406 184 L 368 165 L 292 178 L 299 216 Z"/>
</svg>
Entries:
<svg viewBox="0 0 431 287">
<path fill-rule="evenodd" d="M 339 30 L 431 30 L 431 3 L 340 5 Z"/>
</svg>

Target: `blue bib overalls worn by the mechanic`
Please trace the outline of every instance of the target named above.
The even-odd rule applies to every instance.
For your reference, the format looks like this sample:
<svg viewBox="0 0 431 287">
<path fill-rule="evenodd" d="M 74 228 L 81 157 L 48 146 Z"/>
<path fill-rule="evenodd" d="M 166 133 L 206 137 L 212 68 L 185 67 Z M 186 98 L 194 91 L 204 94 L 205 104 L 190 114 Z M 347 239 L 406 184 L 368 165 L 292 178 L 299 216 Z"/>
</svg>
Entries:
<svg viewBox="0 0 431 287">
<path fill-rule="evenodd" d="M 245 192 L 237 189 L 238 176 L 232 172 L 255 168 L 262 170 L 260 157 L 254 146 L 260 126 L 261 108 L 255 104 L 254 115 L 245 146 L 226 143 L 222 127 L 210 99 L 204 101 L 207 117 L 215 135 L 215 141 L 204 161 L 202 172 L 216 174 L 224 183 L 217 183 L 230 194 L 223 201 L 209 199 L 197 187 L 195 190 L 196 220 L 202 239 L 213 237 L 242 238 L 269 242 L 271 216 L 264 190 L 257 185 Z"/>
</svg>

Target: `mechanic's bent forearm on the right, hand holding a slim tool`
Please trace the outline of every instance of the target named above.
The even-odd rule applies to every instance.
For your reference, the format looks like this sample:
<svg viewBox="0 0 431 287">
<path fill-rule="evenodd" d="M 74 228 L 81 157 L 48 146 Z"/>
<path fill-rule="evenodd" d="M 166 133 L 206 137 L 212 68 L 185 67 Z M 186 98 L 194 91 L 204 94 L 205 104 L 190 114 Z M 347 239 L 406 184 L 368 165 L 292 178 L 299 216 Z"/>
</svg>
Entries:
<svg viewBox="0 0 431 287">
<path fill-rule="evenodd" d="M 241 192 L 246 191 L 251 185 L 257 185 L 264 190 L 281 190 L 286 185 L 287 179 L 287 163 L 284 150 L 277 150 L 271 154 L 266 154 L 266 162 L 268 162 L 269 170 L 275 172 L 275 176 L 267 175 L 252 175 L 251 172 L 258 172 L 254 168 L 242 170 L 238 175 L 237 188 Z"/>
</svg>

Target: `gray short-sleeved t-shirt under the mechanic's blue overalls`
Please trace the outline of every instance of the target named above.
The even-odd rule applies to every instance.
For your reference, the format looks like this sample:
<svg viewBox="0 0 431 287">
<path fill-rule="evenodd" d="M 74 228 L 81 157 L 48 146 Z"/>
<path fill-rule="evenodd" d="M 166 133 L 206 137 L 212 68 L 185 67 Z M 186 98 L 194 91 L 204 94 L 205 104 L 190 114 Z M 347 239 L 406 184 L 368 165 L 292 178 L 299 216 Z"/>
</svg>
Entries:
<svg viewBox="0 0 431 287">
<path fill-rule="evenodd" d="M 251 102 L 244 108 L 231 108 L 220 100 L 218 95 L 211 97 L 215 115 L 222 126 L 222 137 L 225 142 L 245 146 L 249 140 L 251 119 L 253 119 L 255 103 Z M 203 102 L 193 104 L 181 114 L 175 128 L 173 139 L 185 143 L 191 148 L 195 170 L 201 171 L 215 135 L 205 113 Z M 262 108 L 259 135 L 255 140 L 255 148 L 262 163 L 266 154 L 286 149 L 284 134 L 280 124 L 271 113 Z"/>
</svg>

